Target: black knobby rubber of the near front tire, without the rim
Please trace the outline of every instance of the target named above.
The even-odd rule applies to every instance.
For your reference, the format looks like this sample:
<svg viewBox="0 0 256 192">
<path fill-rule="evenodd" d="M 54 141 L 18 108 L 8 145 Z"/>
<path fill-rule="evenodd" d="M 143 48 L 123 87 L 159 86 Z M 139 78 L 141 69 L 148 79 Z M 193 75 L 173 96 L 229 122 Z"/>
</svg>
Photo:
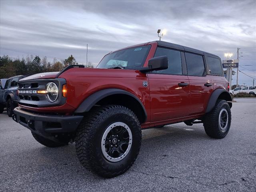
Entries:
<svg viewBox="0 0 256 192">
<path fill-rule="evenodd" d="M 124 122 L 132 132 L 132 146 L 118 162 L 107 160 L 101 150 L 102 136 L 108 126 Z M 140 122 L 128 108 L 106 105 L 94 108 L 84 117 L 76 133 L 76 154 L 82 166 L 102 177 L 111 178 L 126 172 L 136 160 L 141 145 Z"/>
</svg>

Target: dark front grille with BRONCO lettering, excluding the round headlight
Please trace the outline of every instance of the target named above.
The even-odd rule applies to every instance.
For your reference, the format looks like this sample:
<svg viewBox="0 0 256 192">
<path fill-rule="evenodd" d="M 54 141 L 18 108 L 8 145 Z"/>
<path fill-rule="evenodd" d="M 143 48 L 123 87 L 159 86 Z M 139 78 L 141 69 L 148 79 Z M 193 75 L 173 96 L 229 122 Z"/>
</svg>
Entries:
<svg viewBox="0 0 256 192">
<path fill-rule="evenodd" d="M 46 85 L 49 82 L 54 82 L 59 88 L 58 99 L 55 102 L 49 102 L 46 99 L 45 94 L 38 94 L 38 90 L 46 90 Z M 63 105 L 66 102 L 66 98 L 62 96 L 62 85 L 66 84 L 66 80 L 63 78 L 57 79 L 36 79 L 18 82 L 18 97 L 19 104 L 28 107 L 47 107 Z"/>
</svg>

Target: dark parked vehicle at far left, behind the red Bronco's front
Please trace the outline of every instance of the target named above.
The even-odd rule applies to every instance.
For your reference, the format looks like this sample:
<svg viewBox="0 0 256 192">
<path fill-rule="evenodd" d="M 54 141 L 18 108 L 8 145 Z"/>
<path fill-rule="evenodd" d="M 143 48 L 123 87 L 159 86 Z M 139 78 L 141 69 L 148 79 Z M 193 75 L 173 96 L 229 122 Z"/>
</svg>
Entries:
<svg viewBox="0 0 256 192">
<path fill-rule="evenodd" d="M 1 89 L 1 109 L 4 110 L 6 107 L 6 112 L 9 117 L 13 114 L 13 109 L 18 106 L 18 80 L 24 78 L 24 75 L 18 75 L 6 80 L 4 89 Z"/>
</svg>

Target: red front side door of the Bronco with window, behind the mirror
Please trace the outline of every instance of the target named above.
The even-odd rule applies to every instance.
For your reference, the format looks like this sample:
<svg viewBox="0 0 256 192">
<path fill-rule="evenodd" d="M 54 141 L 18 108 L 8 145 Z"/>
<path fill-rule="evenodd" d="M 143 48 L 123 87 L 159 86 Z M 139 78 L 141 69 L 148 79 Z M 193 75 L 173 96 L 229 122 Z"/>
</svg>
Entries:
<svg viewBox="0 0 256 192">
<path fill-rule="evenodd" d="M 188 116 L 189 81 L 184 52 L 158 47 L 154 57 L 168 56 L 166 70 L 148 73 L 151 122 Z"/>
</svg>

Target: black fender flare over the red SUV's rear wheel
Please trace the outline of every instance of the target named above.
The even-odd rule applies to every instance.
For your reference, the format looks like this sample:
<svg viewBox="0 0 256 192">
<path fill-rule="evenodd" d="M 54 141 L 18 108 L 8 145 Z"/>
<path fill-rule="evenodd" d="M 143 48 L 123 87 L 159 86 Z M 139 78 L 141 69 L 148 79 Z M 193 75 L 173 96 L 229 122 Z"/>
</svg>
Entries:
<svg viewBox="0 0 256 192">
<path fill-rule="evenodd" d="M 216 89 L 212 92 L 212 95 L 210 96 L 210 99 L 208 101 L 208 105 L 207 105 L 207 108 L 206 108 L 206 111 L 205 111 L 206 113 L 210 112 L 214 108 L 214 106 L 216 104 L 216 101 L 217 101 L 217 99 L 219 98 L 219 96 L 221 94 L 224 95 L 223 97 L 226 101 L 232 101 L 232 97 L 231 97 L 230 93 L 227 90 L 221 89 L 221 88 Z M 228 104 L 231 108 L 232 103 L 229 102 Z"/>
</svg>

